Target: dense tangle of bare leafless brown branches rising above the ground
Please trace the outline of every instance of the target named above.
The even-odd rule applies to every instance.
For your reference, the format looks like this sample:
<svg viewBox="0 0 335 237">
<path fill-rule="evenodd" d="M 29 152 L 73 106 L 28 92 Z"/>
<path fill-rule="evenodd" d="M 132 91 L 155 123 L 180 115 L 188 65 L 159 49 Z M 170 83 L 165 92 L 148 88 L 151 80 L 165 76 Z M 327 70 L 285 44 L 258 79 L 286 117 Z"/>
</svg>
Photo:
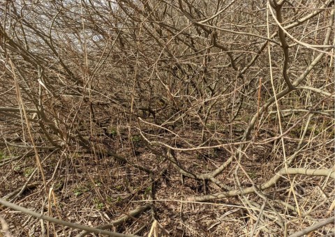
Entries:
<svg viewBox="0 0 335 237">
<path fill-rule="evenodd" d="M 290 169 L 312 116 L 332 121 L 334 0 L 7 1 L 0 12 L 0 144 L 33 150 L 41 171 L 41 151 L 119 158 L 102 140 L 121 121 L 183 176 L 224 190 L 192 200 L 260 193 L 284 174 L 334 178 Z M 285 113 L 293 123 L 281 124 Z M 284 138 L 303 121 L 286 157 Z M 251 144 L 276 142 L 282 170 L 268 183 L 216 178 L 232 162 L 243 171 Z M 174 155 L 214 148 L 230 155 L 207 173 Z"/>
</svg>

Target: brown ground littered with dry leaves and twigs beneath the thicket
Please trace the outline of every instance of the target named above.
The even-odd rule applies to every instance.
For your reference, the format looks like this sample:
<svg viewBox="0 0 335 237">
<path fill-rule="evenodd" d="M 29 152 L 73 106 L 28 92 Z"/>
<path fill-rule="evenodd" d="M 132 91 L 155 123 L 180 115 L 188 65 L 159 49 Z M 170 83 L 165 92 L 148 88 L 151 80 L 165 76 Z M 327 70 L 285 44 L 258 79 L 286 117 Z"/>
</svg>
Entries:
<svg viewBox="0 0 335 237">
<path fill-rule="evenodd" d="M 284 177 L 262 194 L 234 195 L 214 202 L 189 201 L 190 197 L 222 192 L 224 188 L 181 176 L 168 160 L 147 148 L 144 139 L 135 130 L 133 132 L 135 135 L 130 132 L 128 135 L 115 134 L 112 138 L 102 138 L 110 144 L 110 148 L 126 158 L 126 162 L 112 156 L 75 151 L 71 155 L 45 157 L 43 171 L 45 180 L 50 183 L 48 195 L 45 195 L 41 175 L 38 171 L 33 174 L 36 169 L 34 157 L 22 157 L 2 165 L 0 196 L 22 188 L 22 184 L 33 174 L 29 183 L 36 185 L 15 198 L 18 204 L 38 213 L 47 212 L 61 220 L 93 227 L 113 222 L 135 208 L 151 204 L 152 210 L 148 208 L 135 220 L 121 222 L 112 229 L 140 236 L 149 233 L 153 215 L 171 236 L 245 236 L 253 231 L 255 222 L 260 222 L 255 233 L 262 231 L 265 236 L 281 236 L 281 224 L 284 222 L 279 222 L 279 218 L 285 220 L 288 234 L 292 234 L 308 227 L 308 223 L 333 215 L 334 178 L 327 176 Z M 307 138 L 304 141 L 306 152 L 299 155 L 294 163 L 309 169 L 329 167 L 333 148 L 332 143 L 327 142 L 329 139 L 324 139 L 322 142 L 321 137 L 319 141 Z M 285 144 L 288 156 L 295 153 L 298 140 L 292 139 Z M 237 187 L 237 190 L 265 183 L 276 174 L 283 162 L 283 158 L 276 156 L 276 149 L 281 148 L 276 144 L 251 144 L 243 160 L 239 161 L 248 176 L 236 174 L 238 165 L 233 160 L 216 178 L 224 185 Z M 201 152 L 178 151 L 174 155 L 180 165 L 193 172 L 211 171 L 229 158 L 229 152 L 223 148 L 209 148 Z M 43 158 L 43 153 L 40 157 Z M 133 164 L 150 169 L 152 178 Z M 58 236 L 80 234 L 80 231 L 51 222 L 42 224 L 40 220 L 16 211 L 3 208 L 2 213 L 13 236 L 41 236 L 45 231 Z M 332 231 L 332 224 L 318 229 L 319 234 L 329 231 Z"/>
</svg>

